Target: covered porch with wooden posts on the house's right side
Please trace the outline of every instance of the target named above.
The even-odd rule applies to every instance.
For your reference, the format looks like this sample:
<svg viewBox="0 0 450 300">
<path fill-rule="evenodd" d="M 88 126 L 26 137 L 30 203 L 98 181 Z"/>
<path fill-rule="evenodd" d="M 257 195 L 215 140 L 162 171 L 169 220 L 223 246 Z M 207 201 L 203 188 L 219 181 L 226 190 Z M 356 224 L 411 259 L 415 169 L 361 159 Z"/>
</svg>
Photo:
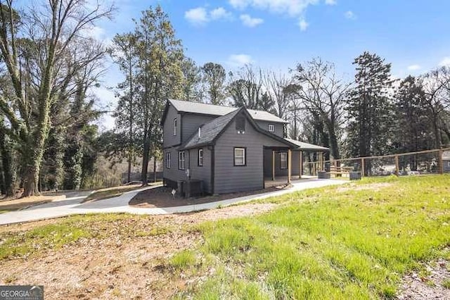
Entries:
<svg viewBox="0 0 450 300">
<path fill-rule="evenodd" d="M 323 156 L 329 149 L 314 144 L 300 142 L 295 139 L 285 139 L 291 147 L 264 146 L 264 188 L 283 184 L 290 184 L 293 180 L 302 178 L 310 179 L 316 177 L 317 171 L 324 170 Z M 304 153 L 315 152 L 319 163 L 314 165 L 314 172 L 304 175 L 305 165 Z"/>
</svg>

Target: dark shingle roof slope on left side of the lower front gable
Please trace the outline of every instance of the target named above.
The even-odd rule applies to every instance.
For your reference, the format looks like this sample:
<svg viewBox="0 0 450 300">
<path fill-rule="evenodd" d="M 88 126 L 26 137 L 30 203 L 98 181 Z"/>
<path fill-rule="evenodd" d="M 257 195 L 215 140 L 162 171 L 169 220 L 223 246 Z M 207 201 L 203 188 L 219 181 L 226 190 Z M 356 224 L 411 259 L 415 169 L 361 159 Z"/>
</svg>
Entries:
<svg viewBox="0 0 450 300">
<path fill-rule="evenodd" d="M 198 132 L 195 132 L 185 144 L 181 145 L 181 149 L 191 149 L 211 144 L 214 139 L 225 129 L 226 125 L 228 125 L 231 120 L 233 120 L 233 118 L 239 113 L 240 110 L 241 108 L 234 108 L 234 111 L 231 111 L 231 113 L 215 118 L 209 123 L 201 126 L 200 137 L 198 136 Z"/>
</svg>

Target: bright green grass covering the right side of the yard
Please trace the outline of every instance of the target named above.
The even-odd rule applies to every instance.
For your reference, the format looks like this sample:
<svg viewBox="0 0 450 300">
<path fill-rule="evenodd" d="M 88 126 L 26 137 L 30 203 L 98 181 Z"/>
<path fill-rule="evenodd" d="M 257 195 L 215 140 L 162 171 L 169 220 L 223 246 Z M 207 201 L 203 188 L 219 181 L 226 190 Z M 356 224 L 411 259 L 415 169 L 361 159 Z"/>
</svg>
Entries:
<svg viewBox="0 0 450 300">
<path fill-rule="evenodd" d="M 387 177 L 274 199 L 276 211 L 200 226 L 210 265 L 179 265 L 194 299 L 390 299 L 420 262 L 450 258 L 450 176 Z M 383 185 L 379 185 L 383 184 Z M 198 257 L 202 260 L 202 257 Z"/>
</svg>

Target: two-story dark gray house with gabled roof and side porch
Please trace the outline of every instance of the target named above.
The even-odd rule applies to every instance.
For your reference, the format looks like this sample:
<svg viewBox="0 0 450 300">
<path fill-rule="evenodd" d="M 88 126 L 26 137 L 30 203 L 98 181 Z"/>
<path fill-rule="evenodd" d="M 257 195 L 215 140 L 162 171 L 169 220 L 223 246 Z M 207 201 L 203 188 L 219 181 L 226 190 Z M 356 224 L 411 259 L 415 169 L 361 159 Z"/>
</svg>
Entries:
<svg viewBox="0 0 450 300">
<path fill-rule="evenodd" d="M 264 188 L 302 174 L 302 151 L 328 151 L 283 137 L 287 122 L 266 111 L 168 100 L 162 116 L 165 185 L 201 180 L 203 192 Z"/>
</svg>

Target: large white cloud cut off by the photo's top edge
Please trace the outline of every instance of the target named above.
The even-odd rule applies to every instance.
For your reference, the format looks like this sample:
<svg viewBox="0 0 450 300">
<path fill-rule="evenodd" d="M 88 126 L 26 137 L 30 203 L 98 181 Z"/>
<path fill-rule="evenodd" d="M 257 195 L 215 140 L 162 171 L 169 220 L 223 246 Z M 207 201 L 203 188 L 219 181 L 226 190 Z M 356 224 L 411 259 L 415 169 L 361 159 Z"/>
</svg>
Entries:
<svg viewBox="0 0 450 300">
<path fill-rule="evenodd" d="M 331 5 L 332 2 L 335 0 L 326 0 L 326 4 Z M 319 4 L 319 0 L 229 0 L 229 4 L 240 10 L 251 7 L 298 18 L 300 30 L 306 30 L 308 23 L 304 20 L 304 13 L 308 6 Z"/>
</svg>

